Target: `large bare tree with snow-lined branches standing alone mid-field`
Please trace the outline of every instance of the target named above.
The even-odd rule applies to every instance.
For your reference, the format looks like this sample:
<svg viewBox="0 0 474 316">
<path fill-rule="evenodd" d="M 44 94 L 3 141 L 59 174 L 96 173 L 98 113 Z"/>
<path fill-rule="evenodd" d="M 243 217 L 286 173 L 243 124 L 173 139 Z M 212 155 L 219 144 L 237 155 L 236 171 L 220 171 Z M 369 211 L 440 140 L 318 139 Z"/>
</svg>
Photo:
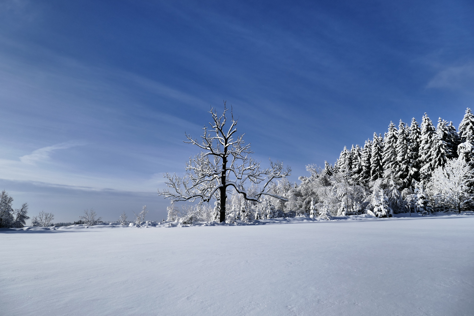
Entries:
<svg viewBox="0 0 474 316">
<path fill-rule="evenodd" d="M 234 138 L 237 132 L 237 120 L 230 111 L 230 126 L 226 126 L 228 117 L 225 107 L 221 116 L 211 108 L 212 122 L 210 128 L 203 127 L 201 141 L 192 139 L 186 134 L 187 144 L 193 144 L 201 148 L 203 152 L 191 157 L 186 164 L 186 176 L 183 178 L 166 173 L 168 181 L 166 185 L 171 190 L 158 191 L 158 195 L 174 201 L 195 201 L 196 199 L 209 202 L 211 199 L 219 199 L 220 216 L 219 221 L 226 220 L 227 191 L 233 187 L 244 199 L 261 203 L 262 196 L 269 195 L 277 199 L 286 200 L 268 192 L 270 184 L 276 180 L 291 174 L 291 169 L 283 168 L 283 163 L 270 161 L 270 168 L 261 169 L 260 163 L 249 157 L 253 153 L 250 144 L 245 144 L 243 135 Z M 228 128 L 227 128 L 228 127 Z M 211 158 L 211 159 L 210 159 Z M 261 190 L 254 196 L 247 194 L 244 188 L 245 182 L 262 184 Z"/>
</svg>

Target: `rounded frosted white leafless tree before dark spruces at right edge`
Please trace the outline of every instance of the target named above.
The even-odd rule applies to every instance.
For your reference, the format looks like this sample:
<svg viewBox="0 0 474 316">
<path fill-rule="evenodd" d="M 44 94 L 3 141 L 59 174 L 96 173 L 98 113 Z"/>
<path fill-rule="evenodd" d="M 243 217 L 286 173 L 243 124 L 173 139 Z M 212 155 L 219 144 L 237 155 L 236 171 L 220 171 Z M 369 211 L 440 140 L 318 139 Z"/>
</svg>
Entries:
<svg viewBox="0 0 474 316">
<path fill-rule="evenodd" d="M 474 170 L 464 159 L 449 160 L 444 168 L 438 167 L 428 183 L 428 191 L 447 209 L 461 210 L 472 202 L 470 185 L 474 181 Z"/>
</svg>

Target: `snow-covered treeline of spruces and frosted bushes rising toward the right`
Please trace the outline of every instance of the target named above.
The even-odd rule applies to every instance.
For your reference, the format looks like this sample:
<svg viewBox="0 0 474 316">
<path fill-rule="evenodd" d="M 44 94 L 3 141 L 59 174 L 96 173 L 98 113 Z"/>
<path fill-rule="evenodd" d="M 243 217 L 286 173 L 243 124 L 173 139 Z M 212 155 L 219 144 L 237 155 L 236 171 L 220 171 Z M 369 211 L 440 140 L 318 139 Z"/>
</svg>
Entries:
<svg viewBox="0 0 474 316">
<path fill-rule="evenodd" d="M 283 179 L 271 192 L 288 199 L 246 201 L 235 193 L 228 199 L 226 219 L 322 217 L 371 214 L 392 217 L 398 213 L 472 209 L 474 197 L 474 115 L 467 109 L 456 131 L 442 118 L 435 126 L 428 115 L 419 124 L 392 122 L 384 135 L 374 133 L 364 146 L 344 147 L 334 165 L 307 166 L 300 184 Z M 253 188 L 248 188 L 251 194 Z M 256 189 L 255 189 L 256 191 Z M 217 219 L 215 207 L 196 205 L 168 208 L 168 220 Z"/>
</svg>

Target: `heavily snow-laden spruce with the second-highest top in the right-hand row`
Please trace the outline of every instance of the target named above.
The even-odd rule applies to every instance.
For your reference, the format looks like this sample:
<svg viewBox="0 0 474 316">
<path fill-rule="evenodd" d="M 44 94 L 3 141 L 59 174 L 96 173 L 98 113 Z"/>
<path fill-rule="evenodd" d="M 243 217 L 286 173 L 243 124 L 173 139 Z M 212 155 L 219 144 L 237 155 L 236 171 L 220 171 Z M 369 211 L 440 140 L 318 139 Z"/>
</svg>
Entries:
<svg viewBox="0 0 474 316">
<path fill-rule="evenodd" d="M 435 126 L 433 126 L 433 123 L 425 113 L 421 122 L 421 144 L 419 145 L 419 174 L 422 181 L 428 181 L 431 178 L 431 172 L 433 172 L 436 160 L 433 149 L 436 146 L 438 146 L 438 134 L 436 133 Z"/>
</svg>

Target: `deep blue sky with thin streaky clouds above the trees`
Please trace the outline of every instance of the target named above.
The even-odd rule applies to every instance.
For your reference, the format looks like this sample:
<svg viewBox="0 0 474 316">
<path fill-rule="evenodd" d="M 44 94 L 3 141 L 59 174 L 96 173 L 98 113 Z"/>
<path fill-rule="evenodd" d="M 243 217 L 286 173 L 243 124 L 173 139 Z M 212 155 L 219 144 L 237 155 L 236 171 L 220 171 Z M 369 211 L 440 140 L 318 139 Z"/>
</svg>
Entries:
<svg viewBox="0 0 474 316">
<path fill-rule="evenodd" d="M 182 173 L 225 99 L 255 158 L 334 162 L 474 102 L 472 1 L 0 1 L 0 189 L 107 220 Z"/>
</svg>

